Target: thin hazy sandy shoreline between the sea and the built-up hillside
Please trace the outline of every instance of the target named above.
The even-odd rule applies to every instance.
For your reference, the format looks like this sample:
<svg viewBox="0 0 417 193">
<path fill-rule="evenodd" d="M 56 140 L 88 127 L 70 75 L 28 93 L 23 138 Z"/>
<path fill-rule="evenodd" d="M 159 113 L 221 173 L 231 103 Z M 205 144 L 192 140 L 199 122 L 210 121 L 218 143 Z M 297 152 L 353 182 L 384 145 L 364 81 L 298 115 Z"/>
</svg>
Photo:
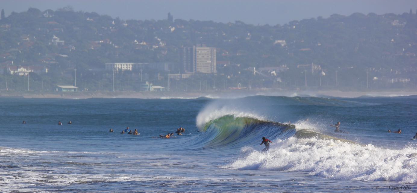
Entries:
<svg viewBox="0 0 417 193">
<path fill-rule="evenodd" d="M 196 99 L 206 98 L 242 98 L 250 96 L 282 96 L 282 97 L 400 97 L 417 95 L 417 91 L 261 91 L 261 90 L 230 90 L 202 92 L 149 92 L 149 91 L 78 91 L 78 92 L 44 92 L 25 93 L 1 91 L 0 98 L 52 98 L 52 99 L 90 99 L 90 98 L 132 98 L 132 99 Z"/>
</svg>

